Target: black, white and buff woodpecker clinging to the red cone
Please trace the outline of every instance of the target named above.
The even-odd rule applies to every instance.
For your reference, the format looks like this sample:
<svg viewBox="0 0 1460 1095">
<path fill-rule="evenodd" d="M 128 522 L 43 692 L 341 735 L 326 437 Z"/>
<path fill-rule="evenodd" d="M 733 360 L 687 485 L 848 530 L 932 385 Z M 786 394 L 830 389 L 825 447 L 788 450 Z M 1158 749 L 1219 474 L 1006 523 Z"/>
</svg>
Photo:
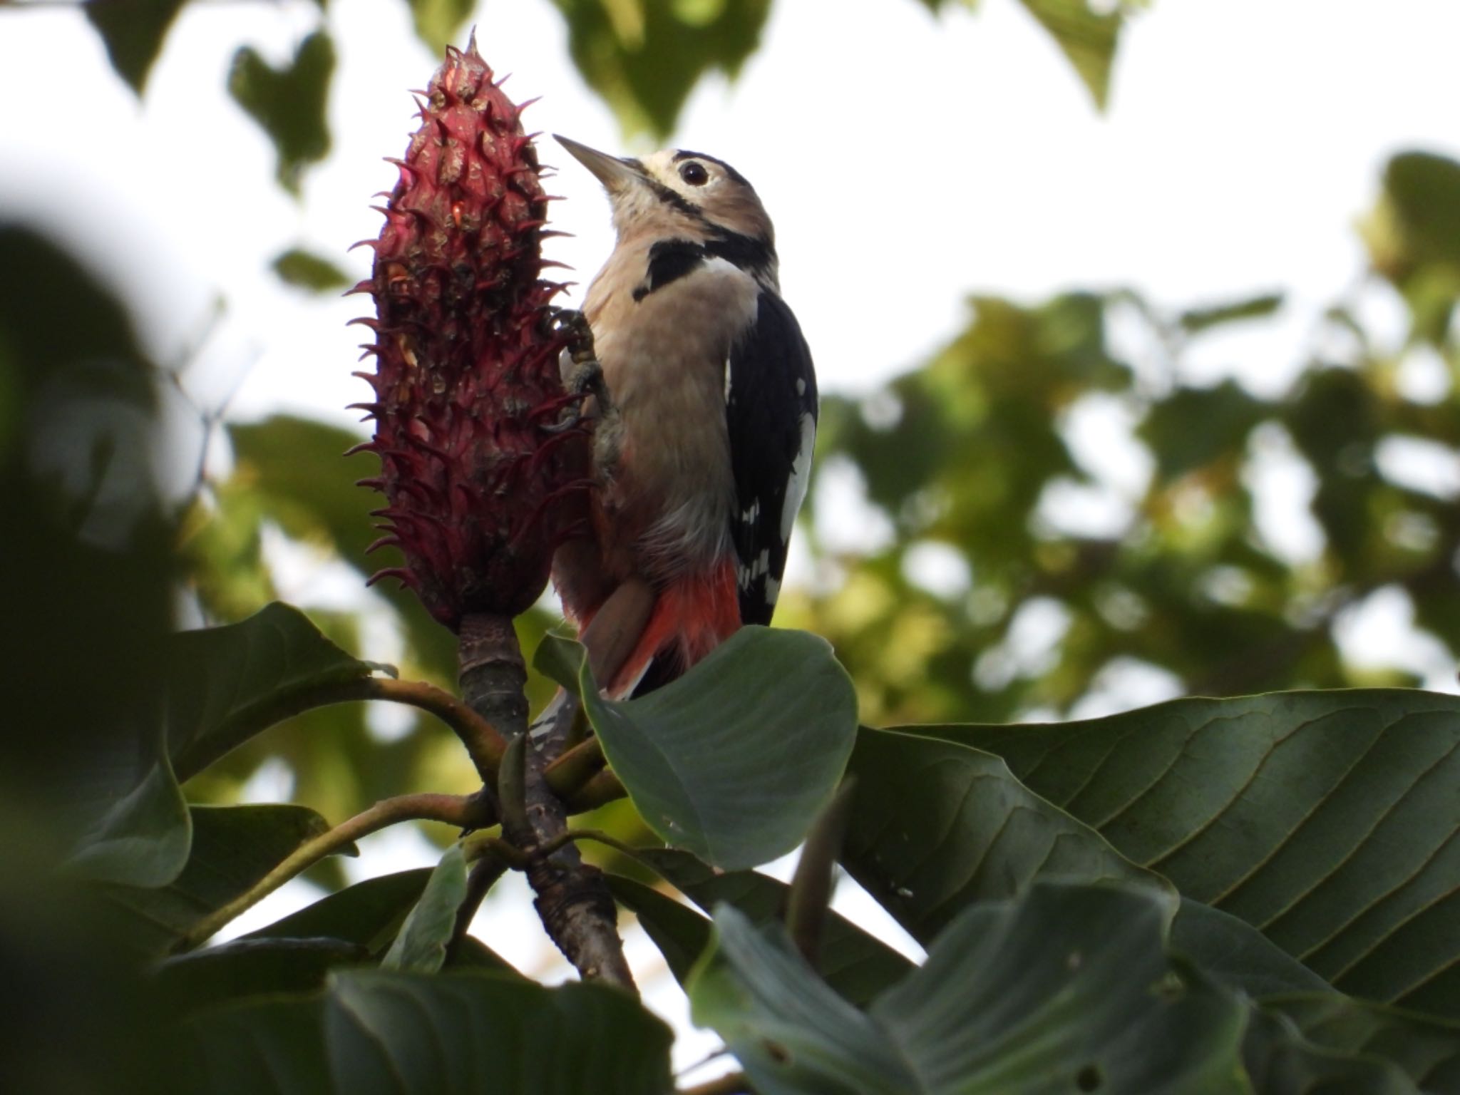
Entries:
<svg viewBox="0 0 1460 1095">
<path fill-rule="evenodd" d="M 558 142 L 607 191 L 618 242 L 584 317 L 612 410 L 594 435 L 593 530 L 553 583 L 580 629 L 631 577 L 656 593 L 606 683 L 642 695 L 743 623 L 769 623 L 816 442 L 816 372 L 781 299 L 746 178 L 683 149 L 619 159 Z"/>
</svg>

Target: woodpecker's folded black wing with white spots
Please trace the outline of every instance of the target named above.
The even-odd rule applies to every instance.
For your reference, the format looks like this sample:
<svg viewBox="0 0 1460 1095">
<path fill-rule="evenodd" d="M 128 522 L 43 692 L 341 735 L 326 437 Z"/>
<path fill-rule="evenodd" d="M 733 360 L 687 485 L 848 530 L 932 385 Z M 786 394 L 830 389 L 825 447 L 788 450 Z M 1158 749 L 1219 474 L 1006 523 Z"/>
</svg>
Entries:
<svg viewBox="0 0 1460 1095">
<path fill-rule="evenodd" d="M 761 291 L 755 326 L 726 362 L 726 423 L 734 472 L 730 537 L 740 622 L 769 623 L 816 442 L 816 369 L 785 302 Z"/>
</svg>

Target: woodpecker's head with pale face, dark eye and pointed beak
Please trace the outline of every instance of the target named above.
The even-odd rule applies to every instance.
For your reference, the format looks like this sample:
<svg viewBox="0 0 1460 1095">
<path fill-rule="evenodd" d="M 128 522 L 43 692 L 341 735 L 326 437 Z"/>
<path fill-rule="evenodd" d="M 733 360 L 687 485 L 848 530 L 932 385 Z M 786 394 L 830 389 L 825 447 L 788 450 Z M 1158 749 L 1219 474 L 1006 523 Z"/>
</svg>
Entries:
<svg viewBox="0 0 1460 1095">
<path fill-rule="evenodd" d="M 620 241 L 730 234 L 774 254 L 771 218 L 745 175 L 724 161 L 683 149 L 619 159 L 566 137 L 556 140 L 609 191 Z"/>
</svg>

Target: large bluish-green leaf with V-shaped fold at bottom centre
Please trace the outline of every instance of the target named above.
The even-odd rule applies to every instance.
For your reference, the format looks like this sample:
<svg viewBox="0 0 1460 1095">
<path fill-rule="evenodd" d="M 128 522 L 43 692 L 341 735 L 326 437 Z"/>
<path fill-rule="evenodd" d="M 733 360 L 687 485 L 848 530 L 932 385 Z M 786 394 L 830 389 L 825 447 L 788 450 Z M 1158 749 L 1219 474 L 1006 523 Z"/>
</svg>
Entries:
<svg viewBox="0 0 1460 1095">
<path fill-rule="evenodd" d="M 1245 1007 L 1167 958 L 1169 915 L 1149 888 L 1041 882 L 965 910 L 863 1013 L 724 907 L 691 1006 L 766 1095 L 1248 1091 Z"/>
</svg>

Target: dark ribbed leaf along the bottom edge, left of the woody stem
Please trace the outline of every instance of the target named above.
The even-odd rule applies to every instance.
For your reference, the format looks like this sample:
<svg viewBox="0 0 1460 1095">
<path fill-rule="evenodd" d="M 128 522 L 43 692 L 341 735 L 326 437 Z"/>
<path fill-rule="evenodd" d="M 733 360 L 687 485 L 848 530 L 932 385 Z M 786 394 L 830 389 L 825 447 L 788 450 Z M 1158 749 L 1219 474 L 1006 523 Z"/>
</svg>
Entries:
<svg viewBox="0 0 1460 1095">
<path fill-rule="evenodd" d="M 219 1009 L 185 1026 L 197 1091 L 279 1095 L 664 1095 L 670 1031 L 594 984 L 543 988 L 477 971 L 346 972 L 321 997 Z"/>
</svg>

